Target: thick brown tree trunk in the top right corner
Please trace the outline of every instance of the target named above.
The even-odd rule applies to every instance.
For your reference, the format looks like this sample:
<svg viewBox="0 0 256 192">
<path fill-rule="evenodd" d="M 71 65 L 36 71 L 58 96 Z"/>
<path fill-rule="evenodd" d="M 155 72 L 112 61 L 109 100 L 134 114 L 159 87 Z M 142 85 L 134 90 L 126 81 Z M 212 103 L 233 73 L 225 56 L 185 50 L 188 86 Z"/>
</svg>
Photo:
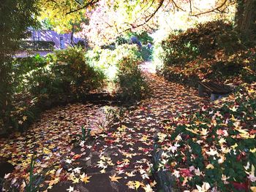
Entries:
<svg viewBox="0 0 256 192">
<path fill-rule="evenodd" d="M 246 38 L 252 39 L 256 32 L 256 0 L 238 0 L 236 27 Z"/>
</svg>

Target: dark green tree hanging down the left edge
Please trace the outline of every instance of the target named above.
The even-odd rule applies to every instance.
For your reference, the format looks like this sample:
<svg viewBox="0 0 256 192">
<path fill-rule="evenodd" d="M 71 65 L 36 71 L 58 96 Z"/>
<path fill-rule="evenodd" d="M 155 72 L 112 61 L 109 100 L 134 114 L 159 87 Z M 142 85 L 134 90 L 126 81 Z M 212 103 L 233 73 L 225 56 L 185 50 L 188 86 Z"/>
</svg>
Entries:
<svg viewBox="0 0 256 192">
<path fill-rule="evenodd" d="M 0 1 L 0 131 L 7 126 L 12 97 L 12 56 L 29 26 L 37 26 L 37 0 Z"/>
</svg>

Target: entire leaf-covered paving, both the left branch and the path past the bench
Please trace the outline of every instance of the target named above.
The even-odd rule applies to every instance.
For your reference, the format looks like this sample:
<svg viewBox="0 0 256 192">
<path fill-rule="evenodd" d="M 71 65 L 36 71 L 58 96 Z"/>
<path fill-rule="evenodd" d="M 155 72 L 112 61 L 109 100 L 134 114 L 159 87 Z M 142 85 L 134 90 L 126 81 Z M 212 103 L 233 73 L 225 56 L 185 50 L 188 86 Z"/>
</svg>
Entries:
<svg viewBox="0 0 256 192">
<path fill-rule="evenodd" d="M 36 172 L 49 168 L 48 191 L 154 191 L 150 177 L 154 134 L 165 129 L 163 120 L 189 115 L 206 99 L 198 97 L 195 89 L 158 77 L 150 66 L 146 62 L 142 69 L 152 96 L 126 114 L 122 125 L 115 123 L 83 147 L 72 148 L 70 135 L 80 131 L 86 119 L 98 115 L 99 105 L 57 107 L 46 111 L 26 135 L 0 139 L 0 156 L 12 157 L 10 162 L 16 166 L 7 179 L 16 183 L 29 176 L 25 173 L 37 147 Z"/>
</svg>

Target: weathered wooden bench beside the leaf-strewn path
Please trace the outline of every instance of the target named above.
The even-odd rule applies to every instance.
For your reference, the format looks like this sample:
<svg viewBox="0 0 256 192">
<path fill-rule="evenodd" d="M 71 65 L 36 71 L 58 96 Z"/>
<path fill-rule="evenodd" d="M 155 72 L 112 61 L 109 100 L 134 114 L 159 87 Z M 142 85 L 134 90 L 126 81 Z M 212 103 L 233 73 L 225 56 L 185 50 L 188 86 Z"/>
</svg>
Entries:
<svg viewBox="0 0 256 192">
<path fill-rule="evenodd" d="M 230 89 L 224 88 L 215 82 L 198 82 L 198 93 L 199 96 L 204 96 L 204 92 L 211 93 L 211 101 L 221 99 L 227 96 L 228 93 L 232 91 Z"/>
</svg>

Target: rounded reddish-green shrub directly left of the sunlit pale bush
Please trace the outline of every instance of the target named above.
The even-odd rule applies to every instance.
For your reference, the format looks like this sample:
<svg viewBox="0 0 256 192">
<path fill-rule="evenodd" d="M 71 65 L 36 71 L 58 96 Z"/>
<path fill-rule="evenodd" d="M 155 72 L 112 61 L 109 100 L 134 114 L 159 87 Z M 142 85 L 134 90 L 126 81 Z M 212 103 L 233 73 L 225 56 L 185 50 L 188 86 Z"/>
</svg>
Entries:
<svg viewBox="0 0 256 192">
<path fill-rule="evenodd" d="M 55 76 L 69 83 L 73 91 L 88 92 L 99 88 L 105 78 L 101 71 L 86 63 L 82 48 L 56 51 L 53 64 Z"/>
</svg>

